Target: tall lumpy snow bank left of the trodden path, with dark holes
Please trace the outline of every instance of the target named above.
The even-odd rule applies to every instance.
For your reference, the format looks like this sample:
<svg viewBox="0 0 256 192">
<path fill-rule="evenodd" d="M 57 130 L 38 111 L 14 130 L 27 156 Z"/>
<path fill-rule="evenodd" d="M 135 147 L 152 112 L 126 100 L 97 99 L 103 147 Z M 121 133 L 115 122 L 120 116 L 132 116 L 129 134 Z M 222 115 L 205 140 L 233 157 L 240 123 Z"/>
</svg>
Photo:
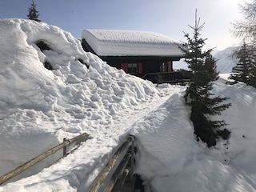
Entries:
<svg viewBox="0 0 256 192">
<path fill-rule="evenodd" d="M 111 130 L 118 111 L 158 97 L 152 83 L 86 53 L 57 26 L 1 19 L 0 34 L 0 175 L 62 138 Z M 40 49 L 40 41 L 50 49 Z"/>
</svg>

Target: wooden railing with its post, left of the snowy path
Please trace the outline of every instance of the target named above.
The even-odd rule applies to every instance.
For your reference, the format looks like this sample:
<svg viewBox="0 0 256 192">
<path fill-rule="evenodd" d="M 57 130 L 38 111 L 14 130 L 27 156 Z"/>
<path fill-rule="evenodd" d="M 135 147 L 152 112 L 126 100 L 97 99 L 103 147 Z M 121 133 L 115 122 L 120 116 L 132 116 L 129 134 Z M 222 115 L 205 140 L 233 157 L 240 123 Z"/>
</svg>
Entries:
<svg viewBox="0 0 256 192">
<path fill-rule="evenodd" d="M 2 177 L 0 177 L 0 185 L 9 181 L 11 178 L 14 178 L 18 174 L 21 174 L 23 171 L 29 169 L 31 166 L 34 166 L 38 162 L 41 162 L 43 159 L 49 157 L 50 155 L 54 154 L 58 150 L 63 149 L 63 156 L 66 156 L 66 154 L 70 149 L 71 150 L 74 149 L 74 146 L 78 145 L 80 142 L 86 141 L 88 137 L 89 137 L 89 134 L 84 133 L 71 139 L 64 138 L 63 142 L 58 144 L 57 146 L 54 146 L 50 150 L 47 150 L 46 152 L 39 154 L 37 157 L 32 158 L 30 161 L 25 162 L 21 166 L 18 166 L 17 168 L 10 171 L 9 173 L 2 175 Z"/>
</svg>

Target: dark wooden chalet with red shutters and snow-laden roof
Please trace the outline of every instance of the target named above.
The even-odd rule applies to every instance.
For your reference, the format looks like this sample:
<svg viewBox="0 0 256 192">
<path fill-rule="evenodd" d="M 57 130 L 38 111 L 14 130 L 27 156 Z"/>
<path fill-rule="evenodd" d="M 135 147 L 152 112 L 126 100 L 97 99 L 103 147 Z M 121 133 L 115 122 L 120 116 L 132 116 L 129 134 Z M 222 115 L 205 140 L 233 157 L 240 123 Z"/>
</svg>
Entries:
<svg viewBox="0 0 256 192">
<path fill-rule="evenodd" d="M 173 62 L 183 57 L 180 42 L 165 35 L 128 30 L 83 30 L 82 47 L 110 66 L 152 82 L 180 78 Z"/>
</svg>

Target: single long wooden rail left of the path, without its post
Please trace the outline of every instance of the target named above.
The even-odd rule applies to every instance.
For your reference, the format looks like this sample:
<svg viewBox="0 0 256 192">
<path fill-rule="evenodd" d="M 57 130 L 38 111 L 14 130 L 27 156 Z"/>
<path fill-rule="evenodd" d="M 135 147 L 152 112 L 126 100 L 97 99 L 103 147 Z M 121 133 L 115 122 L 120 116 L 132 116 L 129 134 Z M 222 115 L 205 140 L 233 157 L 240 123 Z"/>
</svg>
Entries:
<svg viewBox="0 0 256 192">
<path fill-rule="evenodd" d="M 88 134 L 84 133 L 84 134 L 80 134 L 77 137 L 74 137 L 70 140 L 66 140 L 65 142 L 58 144 L 58 146 L 54 146 L 50 150 L 47 150 L 46 152 L 39 154 L 37 157 L 32 158 L 30 161 L 23 163 L 21 166 L 18 166 L 17 168 L 10 171 L 9 173 L 2 175 L 2 177 L 0 178 L 0 185 L 2 185 L 2 183 L 4 183 L 4 182 L 7 182 L 11 178 L 14 178 L 18 174 L 22 173 L 24 170 L 29 169 L 31 166 L 34 166 L 38 162 L 42 161 L 44 158 L 47 158 L 51 154 L 54 154 L 58 150 L 61 150 L 64 146 L 68 146 L 68 145 L 70 145 L 70 143 L 75 142 L 80 138 L 84 138 L 87 135 Z"/>
</svg>

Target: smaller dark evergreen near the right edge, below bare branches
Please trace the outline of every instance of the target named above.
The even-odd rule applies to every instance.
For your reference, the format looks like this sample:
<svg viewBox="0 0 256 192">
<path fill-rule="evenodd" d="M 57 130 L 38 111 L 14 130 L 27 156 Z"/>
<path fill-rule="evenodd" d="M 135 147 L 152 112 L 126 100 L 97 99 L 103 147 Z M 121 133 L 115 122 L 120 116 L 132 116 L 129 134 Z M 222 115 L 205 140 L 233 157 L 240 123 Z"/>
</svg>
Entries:
<svg viewBox="0 0 256 192">
<path fill-rule="evenodd" d="M 244 82 L 248 85 L 250 82 L 250 70 L 253 65 L 251 49 L 246 45 L 246 42 L 243 42 L 241 49 L 235 52 L 235 55 L 238 58 L 238 63 L 233 67 L 232 72 L 234 74 L 230 75 L 230 79 L 233 79 L 234 83 Z"/>
</svg>

